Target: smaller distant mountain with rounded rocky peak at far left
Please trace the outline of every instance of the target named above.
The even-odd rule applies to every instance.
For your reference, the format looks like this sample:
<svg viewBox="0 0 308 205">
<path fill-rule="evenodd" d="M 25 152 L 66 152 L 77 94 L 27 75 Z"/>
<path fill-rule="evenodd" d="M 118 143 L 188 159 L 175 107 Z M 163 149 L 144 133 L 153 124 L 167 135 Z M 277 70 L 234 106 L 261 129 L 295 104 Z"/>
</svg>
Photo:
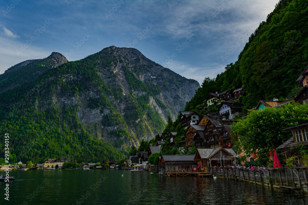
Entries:
<svg viewBox="0 0 308 205">
<path fill-rule="evenodd" d="M 61 53 L 52 52 L 50 56 L 44 59 L 18 63 L 0 75 L 0 93 L 34 81 L 49 69 L 67 62 L 68 60 Z"/>
</svg>

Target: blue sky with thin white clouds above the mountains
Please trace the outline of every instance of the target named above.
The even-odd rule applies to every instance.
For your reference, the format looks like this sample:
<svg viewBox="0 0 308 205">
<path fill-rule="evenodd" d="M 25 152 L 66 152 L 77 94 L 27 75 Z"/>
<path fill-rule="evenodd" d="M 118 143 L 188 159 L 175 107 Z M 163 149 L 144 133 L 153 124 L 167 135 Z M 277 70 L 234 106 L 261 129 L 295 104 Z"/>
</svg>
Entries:
<svg viewBox="0 0 308 205">
<path fill-rule="evenodd" d="M 237 60 L 277 2 L 1 0 L 0 73 L 52 52 L 76 61 L 115 45 L 201 84 Z"/>
</svg>

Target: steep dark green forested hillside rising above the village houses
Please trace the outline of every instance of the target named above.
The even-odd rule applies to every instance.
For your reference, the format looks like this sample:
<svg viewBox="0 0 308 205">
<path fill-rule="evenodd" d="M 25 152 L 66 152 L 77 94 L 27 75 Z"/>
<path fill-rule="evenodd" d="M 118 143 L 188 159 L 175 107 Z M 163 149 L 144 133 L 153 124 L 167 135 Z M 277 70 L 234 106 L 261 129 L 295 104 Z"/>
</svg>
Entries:
<svg viewBox="0 0 308 205">
<path fill-rule="evenodd" d="M 206 78 L 185 110 L 196 110 L 208 93 L 243 87 L 244 110 L 259 100 L 280 101 L 299 92 L 296 79 L 308 64 L 308 2 L 281 0 L 251 34 L 235 63 Z M 222 56 L 223 58 L 223 56 Z"/>
</svg>

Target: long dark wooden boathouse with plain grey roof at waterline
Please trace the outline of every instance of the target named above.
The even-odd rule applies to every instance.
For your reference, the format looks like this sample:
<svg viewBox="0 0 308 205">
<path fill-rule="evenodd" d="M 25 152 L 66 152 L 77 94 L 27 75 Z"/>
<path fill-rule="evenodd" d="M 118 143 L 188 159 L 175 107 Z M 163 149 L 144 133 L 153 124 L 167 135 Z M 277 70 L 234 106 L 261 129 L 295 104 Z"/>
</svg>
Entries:
<svg viewBox="0 0 308 205">
<path fill-rule="evenodd" d="M 159 174 L 166 175 L 168 172 L 189 169 L 192 165 L 197 165 L 194 157 L 194 155 L 162 155 L 158 164 Z"/>
</svg>

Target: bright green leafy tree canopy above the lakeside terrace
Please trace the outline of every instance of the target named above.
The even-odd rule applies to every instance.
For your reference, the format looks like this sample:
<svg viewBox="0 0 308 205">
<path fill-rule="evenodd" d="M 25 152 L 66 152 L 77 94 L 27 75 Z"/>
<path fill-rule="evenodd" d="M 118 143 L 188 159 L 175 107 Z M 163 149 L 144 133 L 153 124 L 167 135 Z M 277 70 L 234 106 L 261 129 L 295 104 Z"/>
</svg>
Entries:
<svg viewBox="0 0 308 205">
<path fill-rule="evenodd" d="M 234 124 L 231 129 L 238 141 L 237 148 L 251 154 L 257 149 L 265 153 L 267 149 L 275 149 L 291 136 L 284 128 L 307 123 L 308 105 L 292 102 L 290 104 L 255 110 L 247 118 Z"/>
</svg>

